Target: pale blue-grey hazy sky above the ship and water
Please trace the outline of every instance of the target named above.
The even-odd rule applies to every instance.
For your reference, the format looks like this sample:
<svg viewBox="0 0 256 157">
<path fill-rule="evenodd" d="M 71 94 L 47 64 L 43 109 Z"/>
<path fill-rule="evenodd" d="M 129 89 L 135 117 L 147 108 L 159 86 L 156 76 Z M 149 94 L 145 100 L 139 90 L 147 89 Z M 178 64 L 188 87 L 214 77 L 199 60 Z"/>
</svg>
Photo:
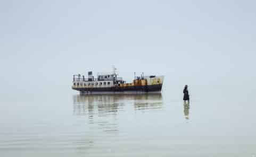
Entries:
<svg viewBox="0 0 256 157">
<path fill-rule="evenodd" d="M 71 91 L 72 75 L 165 75 L 164 90 L 255 95 L 255 1 L 1 1 L 1 94 Z M 235 89 L 235 88 L 234 88 Z M 233 89 L 232 89 L 233 90 Z M 14 97 L 14 96 L 13 96 Z"/>
</svg>

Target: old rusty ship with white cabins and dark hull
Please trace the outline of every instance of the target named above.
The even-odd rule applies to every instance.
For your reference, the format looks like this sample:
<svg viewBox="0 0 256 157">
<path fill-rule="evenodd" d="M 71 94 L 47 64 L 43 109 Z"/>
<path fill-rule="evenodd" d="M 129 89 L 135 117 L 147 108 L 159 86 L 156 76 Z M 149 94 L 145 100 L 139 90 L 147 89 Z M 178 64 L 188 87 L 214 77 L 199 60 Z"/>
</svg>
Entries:
<svg viewBox="0 0 256 157">
<path fill-rule="evenodd" d="M 84 75 L 73 75 L 72 89 L 80 94 L 102 94 L 102 93 L 161 93 L 164 76 L 149 75 L 136 76 L 134 80 L 127 83 L 119 77 L 117 69 L 113 67 L 110 73 L 97 73 L 94 77 L 93 72 L 88 72 L 88 77 Z"/>
</svg>

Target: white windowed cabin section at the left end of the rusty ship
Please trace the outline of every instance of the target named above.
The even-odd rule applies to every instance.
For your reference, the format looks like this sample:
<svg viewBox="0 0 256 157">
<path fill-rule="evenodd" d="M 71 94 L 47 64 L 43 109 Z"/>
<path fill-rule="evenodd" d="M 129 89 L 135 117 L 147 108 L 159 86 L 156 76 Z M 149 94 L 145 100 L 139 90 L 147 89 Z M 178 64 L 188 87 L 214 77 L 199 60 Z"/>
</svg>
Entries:
<svg viewBox="0 0 256 157">
<path fill-rule="evenodd" d="M 73 75 L 73 88 L 109 88 L 124 83 L 116 73 L 98 73 L 96 79 L 93 72 L 88 72 L 88 78 L 80 74 Z"/>
</svg>

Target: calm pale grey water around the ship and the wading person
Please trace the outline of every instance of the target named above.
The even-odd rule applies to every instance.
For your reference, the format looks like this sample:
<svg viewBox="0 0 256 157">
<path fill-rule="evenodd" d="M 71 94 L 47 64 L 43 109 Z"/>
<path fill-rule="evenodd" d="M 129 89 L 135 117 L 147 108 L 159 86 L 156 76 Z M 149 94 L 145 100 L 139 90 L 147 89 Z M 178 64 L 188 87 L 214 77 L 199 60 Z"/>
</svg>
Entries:
<svg viewBox="0 0 256 157">
<path fill-rule="evenodd" d="M 201 88 L 2 98 L 0 156 L 255 156 L 250 91 Z"/>
</svg>

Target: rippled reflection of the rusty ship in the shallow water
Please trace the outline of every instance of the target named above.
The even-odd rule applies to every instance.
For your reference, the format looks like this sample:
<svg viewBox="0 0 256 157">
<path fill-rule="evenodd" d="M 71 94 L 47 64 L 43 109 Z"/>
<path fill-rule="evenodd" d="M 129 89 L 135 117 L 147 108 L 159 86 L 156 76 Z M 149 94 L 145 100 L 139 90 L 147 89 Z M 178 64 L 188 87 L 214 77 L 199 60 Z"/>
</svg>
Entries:
<svg viewBox="0 0 256 157">
<path fill-rule="evenodd" d="M 162 109 L 161 94 L 73 95 L 73 115 L 88 117 L 90 129 L 119 131 L 119 114 Z"/>
</svg>

